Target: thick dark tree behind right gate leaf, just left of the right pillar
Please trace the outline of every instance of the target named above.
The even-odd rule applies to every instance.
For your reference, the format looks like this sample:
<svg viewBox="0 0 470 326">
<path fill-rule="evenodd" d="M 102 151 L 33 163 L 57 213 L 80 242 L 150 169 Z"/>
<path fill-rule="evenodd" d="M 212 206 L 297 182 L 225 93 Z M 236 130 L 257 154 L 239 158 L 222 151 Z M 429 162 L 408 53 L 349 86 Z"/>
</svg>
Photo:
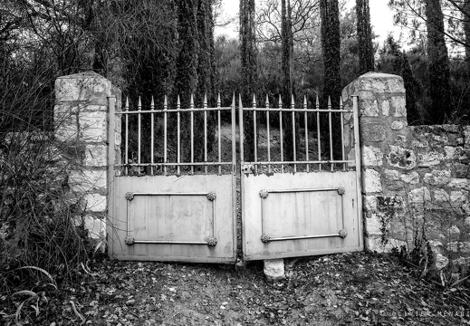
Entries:
<svg viewBox="0 0 470 326">
<path fill-rule="evenodd" d="M 340 34 L 340 10 L 338 0 L 320 0 L 321 11 L 321 50 L 323 53 L 323 95 L 322 106 L 326 107 L 328 98 L 331 98 L 333 108 L 338 108 L 341 97 L 341 34 Z M 328 118 L 322 115 L 321 131 L 323 150 L 330 151 L 328 138 Z M 341 126 L 340 117 L 332 114 L 333 155 L 341 158 Z"/>
</svg>

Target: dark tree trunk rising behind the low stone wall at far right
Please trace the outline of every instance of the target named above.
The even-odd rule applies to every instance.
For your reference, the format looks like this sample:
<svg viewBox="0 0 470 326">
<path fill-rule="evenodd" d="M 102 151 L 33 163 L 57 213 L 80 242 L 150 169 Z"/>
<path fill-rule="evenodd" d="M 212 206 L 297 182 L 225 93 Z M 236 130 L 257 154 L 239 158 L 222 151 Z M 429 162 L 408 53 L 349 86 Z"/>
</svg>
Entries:
<svg viewBox="0 0 470 326">
<path fill-rule="evenodd" d="M 425 0 L 427 16 L 427 55 L 431 110 L 427 120 L 442 124 L 453 110 L 450 91 L 449 58 L 444 37 L 444 15 L 440 0 Z"/>
</svg>

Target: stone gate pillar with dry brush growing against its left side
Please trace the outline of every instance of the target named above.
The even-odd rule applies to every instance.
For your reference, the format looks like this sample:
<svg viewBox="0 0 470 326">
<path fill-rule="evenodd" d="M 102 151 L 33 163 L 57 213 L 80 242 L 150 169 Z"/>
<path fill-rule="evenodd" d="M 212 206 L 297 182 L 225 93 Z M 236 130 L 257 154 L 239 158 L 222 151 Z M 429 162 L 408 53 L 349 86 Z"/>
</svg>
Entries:
<svg viewBox="0 0 470 326">
<path fill-rule="evenodd" d="M 81 199 L 91 237 L 106 236 L 110 98 L 120 109 L 120 91 L 95 72 L 62 76 L 55 82 L 54 125 L 59 143 L 67 147 L 71 196 Z M 120 162 L 120 120 L 116 120 L 114 152 Z"/>
</svg>

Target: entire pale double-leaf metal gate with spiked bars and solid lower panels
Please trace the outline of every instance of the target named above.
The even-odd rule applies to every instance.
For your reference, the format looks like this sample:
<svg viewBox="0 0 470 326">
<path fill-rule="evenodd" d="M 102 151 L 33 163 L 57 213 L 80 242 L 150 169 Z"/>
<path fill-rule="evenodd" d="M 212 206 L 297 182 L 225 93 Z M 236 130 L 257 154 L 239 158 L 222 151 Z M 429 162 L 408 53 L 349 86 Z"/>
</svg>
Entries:
<svg viewBox="0 0 470 326">
<path fill-rule="evenodd" d="M 123 164 L 115 164 L 110 150 L 110 256 L 229 264 L 237 257 L 237 231 L 245 260 L 362 250 L 358 101 L 353 100 L 353 110 L 343 110 L 342 104 L 322 110 L 318 100 L 314 109 L 305 100 L 302 109 L 295 109 L 293 101 L 290 109 L 283 109 L 281 99 L 279 108 L 270 108 L 267 99 L 265 108 L 257 108 L 255 100 L 244 108 L 240 100 L 239 138 L 235 96 L 230 107 L 221 107 L 219 97 L 216 108 L 208 108 L 206 99 L 202 108 L 195 108 L 192 96 L 188 108 L 181 108 L 179 98 L 175 109 L 168 108 L 166 98 L 162 110 L 155 109 L 153 99 L 149 110 L 142 110 L 140 100 L 137 110 L 129 110 L 127 102 L 123 111 L 114 112 L 111 104 L 110 125 L 112 119 L 122 119 L 125 130 Z M 229 117 L 229 139 L 221 114 Z M 332 136 L 334 115 L 340 117 L 340 139 Z M 321 116 L 329 126 L 326 154 Z M 286 118 L 293 121 L 292 148 L 283 146 Z M 302 129 L 296 132 L 300 118 Z M 208 119 L 216 125 L 212 136 Z M 254 121 L 252 160 L 244 158 L 246 121 Z M 312 121 L 316 128 L 310 130 Z M 149 129 L 143 122 L 149 122 Z M 137 137 L 129 134 L 129 127 L 137 129 Z M 341 159 L 333 159 L 333 140 L 341 141 Z M 346 159 L 345 153 L 354 152 L 350 149 L 355 155 Z M 293 158 L 286 160 L 289 151 Z"/>
</svg>

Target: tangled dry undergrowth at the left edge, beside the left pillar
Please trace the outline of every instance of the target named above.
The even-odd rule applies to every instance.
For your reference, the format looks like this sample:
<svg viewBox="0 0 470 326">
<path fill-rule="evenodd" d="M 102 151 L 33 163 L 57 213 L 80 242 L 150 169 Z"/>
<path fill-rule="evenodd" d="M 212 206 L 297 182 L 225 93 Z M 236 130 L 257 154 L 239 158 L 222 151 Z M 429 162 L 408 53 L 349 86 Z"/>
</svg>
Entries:
<svg viewBox="0 0 470 326">
<path fill-rule="evenodd" d="M 92 244 L 68 187 L 71 144 L 50 131 L 50 83 L 14 74 L 0 82 L 0 324 L 24 324 L 87 273 Z"/>
</svg>

